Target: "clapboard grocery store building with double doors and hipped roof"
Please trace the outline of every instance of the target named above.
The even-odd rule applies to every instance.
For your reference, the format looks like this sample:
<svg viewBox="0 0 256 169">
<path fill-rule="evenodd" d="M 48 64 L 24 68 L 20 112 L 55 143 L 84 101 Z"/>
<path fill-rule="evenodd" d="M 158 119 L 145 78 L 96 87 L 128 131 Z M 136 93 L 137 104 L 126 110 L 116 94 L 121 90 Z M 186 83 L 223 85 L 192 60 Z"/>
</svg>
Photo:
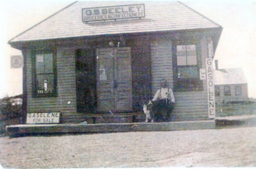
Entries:
<svg viewBox="0 0 256 169">
<path fill-rule="evenodd" d="M 87 114 L 141 112 L 164 78 L 176 98 L 173 121 L 208 120 L 221 31 L 181 2 L 76 1 L 9 44 L 24 56 L 27 113 L 79 123 Z"/>
</svg>

